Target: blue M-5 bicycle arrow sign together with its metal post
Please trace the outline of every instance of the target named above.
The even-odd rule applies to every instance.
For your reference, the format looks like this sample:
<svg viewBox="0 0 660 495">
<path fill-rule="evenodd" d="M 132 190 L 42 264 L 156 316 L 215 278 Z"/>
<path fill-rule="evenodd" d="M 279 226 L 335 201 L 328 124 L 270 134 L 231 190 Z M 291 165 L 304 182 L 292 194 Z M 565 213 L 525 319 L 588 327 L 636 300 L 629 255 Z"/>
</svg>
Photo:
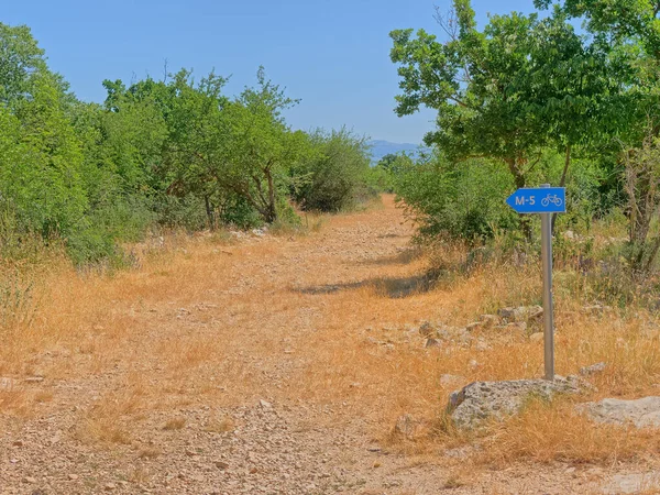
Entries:
<svg viewBox="0 0 660 495">
<path fill-rule="evenodd" d="M 518 189 L 506 200 L 518 213 L 541 216 L 541 261 L 543 267 L 543 361 L 546 380 L 554 380 L 554 308 L 552 306 L 552 215 L 566 211 L 565 189 L 542 184 Z"/>
</svg>

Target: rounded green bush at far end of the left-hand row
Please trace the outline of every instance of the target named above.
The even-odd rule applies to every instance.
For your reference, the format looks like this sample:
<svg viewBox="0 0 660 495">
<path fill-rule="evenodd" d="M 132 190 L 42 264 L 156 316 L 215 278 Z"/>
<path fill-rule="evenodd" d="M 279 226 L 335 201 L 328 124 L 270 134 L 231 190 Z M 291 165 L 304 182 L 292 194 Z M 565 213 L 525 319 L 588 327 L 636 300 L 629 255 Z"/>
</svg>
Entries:
<svg viewBox="0 0 660 495">
<path fill-rule="evenodd" d="M 296 201 L 306 210 L 341 211 L 354 207 L 370 189 L 370 160 L 365 138 L 346 129 L 311 134 L 311 153 L 293 169 L 300 184 Z"/>
</svg>

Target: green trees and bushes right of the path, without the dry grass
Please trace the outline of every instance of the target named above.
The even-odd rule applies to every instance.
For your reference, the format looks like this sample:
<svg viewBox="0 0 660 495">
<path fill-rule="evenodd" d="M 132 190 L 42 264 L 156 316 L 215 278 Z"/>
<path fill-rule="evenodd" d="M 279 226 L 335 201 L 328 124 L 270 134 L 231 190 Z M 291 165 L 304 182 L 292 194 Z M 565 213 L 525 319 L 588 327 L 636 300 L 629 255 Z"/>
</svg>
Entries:
<svg viewBox="0 0 660 495">
<path fill-rule="evenodd" d="M 609 301 L 628 301 L 652 278 L 660 31 L 658 9 L 629 3 L 539 0 L 538 13 L 493 15 L 479 28 L 470 1 L 455 0 L 438 10 L 439 36 L 391 33 L 396 112 L 438 111 L 425 138 L 430 156 L 378 165 L 420 241 L 462 243 L 482 258 L 493 246 L 531 253 L 538 219 L 503 198 L 549 183 L 568 188 L 568 211 L 553 223 L 562 263 L 584 276 L 605 267 L 619 280 L 603 294 Z M 616 241 L 598 249 L 605 232 Z"/>
</svg>

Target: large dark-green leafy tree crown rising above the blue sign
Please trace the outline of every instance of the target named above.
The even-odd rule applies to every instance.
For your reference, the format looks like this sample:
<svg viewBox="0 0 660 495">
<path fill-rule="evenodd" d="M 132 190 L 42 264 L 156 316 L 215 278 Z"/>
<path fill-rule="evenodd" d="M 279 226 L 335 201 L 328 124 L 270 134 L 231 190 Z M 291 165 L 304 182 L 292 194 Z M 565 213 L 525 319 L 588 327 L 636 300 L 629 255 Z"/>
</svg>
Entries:
<svg viewBox="0 0 660 495">
<path fill-rule="evenodd" d="M 520 188 L 553 146 L 564 155 L 564 186 L 573 148 L 593 150 L 620 129 L 627 54 L 576 34 L 563 11 L 495 15 L 480 32 L 469 0 L 455 0 L 453 13 L 438 19 L 446 43 L 394 31 L 392 59 L 403 78 L 397 113 L 438 110 L 426 142 L 449 160 L 502 160 Z"/>
</svg>

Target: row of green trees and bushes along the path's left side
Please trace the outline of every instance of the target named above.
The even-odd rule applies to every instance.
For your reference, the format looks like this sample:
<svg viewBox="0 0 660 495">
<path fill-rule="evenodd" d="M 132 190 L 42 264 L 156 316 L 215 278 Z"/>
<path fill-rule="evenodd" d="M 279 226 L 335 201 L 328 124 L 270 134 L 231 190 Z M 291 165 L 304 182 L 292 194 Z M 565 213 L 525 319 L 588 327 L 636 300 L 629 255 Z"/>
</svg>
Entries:
<svg viewBox="0 0 660 495">
<path fill-rule="evenodd" d="M 304 209 L 374 197 L 364 138 L 293 131 L 298 105 L 268 80 L 235 97 L 227 79 L 182 69 L 105 80 L 78 100 L 26 26 L 0 24 L 0 255 L 59 248 L 78 266 L 125 264 L 147 234 L 295 226 Z M 100 84 L 100 81 L 99 81 Z"/>
</svg>

